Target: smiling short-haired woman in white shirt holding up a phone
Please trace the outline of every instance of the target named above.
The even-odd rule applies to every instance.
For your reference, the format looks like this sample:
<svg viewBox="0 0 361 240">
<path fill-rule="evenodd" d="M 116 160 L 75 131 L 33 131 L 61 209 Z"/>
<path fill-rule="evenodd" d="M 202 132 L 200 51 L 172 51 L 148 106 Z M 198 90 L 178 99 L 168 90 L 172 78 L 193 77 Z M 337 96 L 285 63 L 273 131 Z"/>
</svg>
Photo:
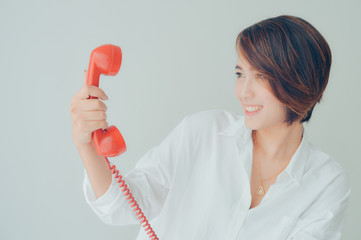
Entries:
<svg viewBox="0 0 361 240">
<path fill-rule="evenodd" d="M 236 49 L 244 115 L 186 116 L 125 176 L 134 198 L 159 239 L 341 239 L 346 173 L 303 127 L 328 82 L 326 40 L 305 20 L 283 15 L 244 29 Z M 91 132 L 107 123 L 105 104 L 89 95 L 106 99 L 85 85 L 71 104 L 86 200 L 105 223 L 136 224 L 91 143 Z M 149 237 L 140 229 L 137 239 Z"/>
</svg>

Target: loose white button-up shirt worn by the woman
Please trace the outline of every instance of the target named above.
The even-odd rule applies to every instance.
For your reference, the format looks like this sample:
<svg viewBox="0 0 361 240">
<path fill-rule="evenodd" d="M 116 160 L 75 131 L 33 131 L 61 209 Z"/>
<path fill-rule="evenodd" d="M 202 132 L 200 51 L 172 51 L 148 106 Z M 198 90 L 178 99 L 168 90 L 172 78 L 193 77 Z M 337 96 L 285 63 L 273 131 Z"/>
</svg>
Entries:
<svg viewBox="0 0 361 240">
<path fill-rule="evenodd" d="M 186 116 L 125 176 L 160 240 L 340 240 L 351 193 L 335 160 L 303 139 L 261 203 L 251 205 L 252 131 L 244 116 L 207 110 Z M 111 225 L 140 224 L 113 180 L 85 198 Z M 137 240 L 146 240 L 143 227 Z"/>
</svg>

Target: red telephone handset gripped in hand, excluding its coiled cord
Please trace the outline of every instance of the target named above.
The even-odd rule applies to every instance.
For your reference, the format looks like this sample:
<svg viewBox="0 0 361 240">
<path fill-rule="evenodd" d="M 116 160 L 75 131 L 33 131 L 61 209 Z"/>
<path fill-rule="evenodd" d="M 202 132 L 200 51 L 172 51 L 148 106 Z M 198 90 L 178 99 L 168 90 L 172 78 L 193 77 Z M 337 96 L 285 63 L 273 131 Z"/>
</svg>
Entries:
<svg viewBox="0 0 361 240">
<path fill-rule="evenodd" d="M 88 67 L 87 84 L 99 87 L 100 74 L 115 76 L 122 62 L 120 47 L 105 44 L 95 48 Z M 90 96 L 89 99 L 97 99 Z M 106 129 L 98 129 L 92 133 L 92 140 L 98 154 L 105 157 L 116 157 L 127 149 L 122 134 L 114 125 Z"/>
</svg>

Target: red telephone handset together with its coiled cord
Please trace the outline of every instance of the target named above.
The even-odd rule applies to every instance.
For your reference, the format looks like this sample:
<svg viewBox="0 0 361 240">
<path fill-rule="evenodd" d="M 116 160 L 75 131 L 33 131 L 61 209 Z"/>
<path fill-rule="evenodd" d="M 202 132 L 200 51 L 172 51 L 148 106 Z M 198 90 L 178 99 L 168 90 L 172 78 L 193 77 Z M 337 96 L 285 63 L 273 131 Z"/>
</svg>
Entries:
<svg viewBox="0 0 361 240">
<path fill-rule="evenodd" d="M 120 47 L 105 44 L 95 48 L 90 55 L 87 84 L 99 87 L 100 74 L 115 76 L 119 71 L 121 62 L 122 50 Z M 88 99 L 97 99 L 97 97 L 90 96 Z M 114 165 L 111 165 L 107 158 L 119 156 L 126 151 L 127 147 L 122 134 L 112 125 L 104 130 L 95 130 L 92 133 L 92 140 L 98 154 L 104 156 L 105 161 L 108 163 L 109 170 L 111 170 L 114 179 L 118 179 L 117 183 L 120 183 L 119 187 L 122 188 L 121 190 L 124 192 L 124 196 L 127 196 L 126 199 L 129 200 L 129 204 L 132 204 L 130 207 L 134 208 L 133 211 L 136 212 L 135 215 L 139 215 L 138 219 L 140 223 L 144 223 L 142 226 L 149 235 L 149 238 L 158 240 L 147 218 L 139 208 L 137 201 L 134 200 L 128 186 L 122 179 L 122 175 L 119 174 L 119 171 L 116 170 Z"/>
</svg>

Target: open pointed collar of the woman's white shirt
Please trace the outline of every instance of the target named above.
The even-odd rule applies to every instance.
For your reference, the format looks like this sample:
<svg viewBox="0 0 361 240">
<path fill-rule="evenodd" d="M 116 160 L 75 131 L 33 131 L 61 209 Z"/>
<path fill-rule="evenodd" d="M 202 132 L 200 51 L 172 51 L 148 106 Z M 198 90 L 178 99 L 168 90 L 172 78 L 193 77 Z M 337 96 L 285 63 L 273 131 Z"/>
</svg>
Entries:
<svg viewBox="0 0 361 240">
<path fill-rule="evenodd" d="M 244 144 L 246 146 L 252 146 L 253 149 L 252 130 L 247 128 L 244 124 L 243 115 L 236 114 L 236 117 L 230 120 L 230 124 L 227 125 L 225 128 L 220 129 L 218 134 L 233 137 L 235 140 L 239 140 L 241 144 Z M 288 175 L 297 184 L 299 184 L 303 176 L 309 150 L 310 146 L 307 139 L 307 131 L 303 126 L 303 137 L 301 144 L 297 148 L 296 152 L 293 154 L 291 161 L 285 169 Z"/>
</svg>

